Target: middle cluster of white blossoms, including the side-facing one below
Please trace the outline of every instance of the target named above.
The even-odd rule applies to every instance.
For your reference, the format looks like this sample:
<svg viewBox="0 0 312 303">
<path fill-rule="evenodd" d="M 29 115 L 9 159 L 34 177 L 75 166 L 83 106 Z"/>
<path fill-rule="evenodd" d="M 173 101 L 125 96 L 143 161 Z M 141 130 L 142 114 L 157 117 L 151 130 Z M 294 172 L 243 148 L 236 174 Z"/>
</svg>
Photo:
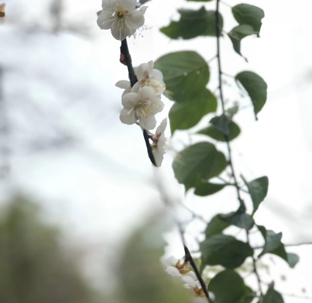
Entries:
<svg viewBox="0 0 312 303">
<path fill-rule="evenodd" d="M 134 67 L 134 73 L 138 82 L 133 87 L 130 81 L 121 80 L 116 86 L 124 89 L 121 96 L 123 109 L 120 113 L 120 121 L 124 124 L 134 124 L 139 121 L 142 129 L 151 130 L 156 127 L 155 115 L 163 110 L 161 94 L 166 90 L 163 82 L 163 74 L 154 69 L 154 62 L 149 61 Z M 167 118 L 163 119 L 157 127 L 155 134 L 150 133 L 152 139 L 152 152 L 157 166 L 161 166 L 163 155 L 166 151 Z"/>
</svg>

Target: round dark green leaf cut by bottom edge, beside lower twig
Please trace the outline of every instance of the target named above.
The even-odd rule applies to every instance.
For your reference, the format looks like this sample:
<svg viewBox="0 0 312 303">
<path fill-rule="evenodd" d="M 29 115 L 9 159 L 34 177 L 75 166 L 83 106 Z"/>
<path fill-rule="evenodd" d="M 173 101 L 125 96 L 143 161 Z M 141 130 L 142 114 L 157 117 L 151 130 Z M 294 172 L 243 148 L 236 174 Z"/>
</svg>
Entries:
<svg viewBox="0 0 312 303">
<path fill-rule="evenodd" d="M 214 294 L 215 303 L 240 303 L 246 294 L 246 286 L 238 273 L 224 270 L 211 279 L 208 291 Z"/>
</svg>

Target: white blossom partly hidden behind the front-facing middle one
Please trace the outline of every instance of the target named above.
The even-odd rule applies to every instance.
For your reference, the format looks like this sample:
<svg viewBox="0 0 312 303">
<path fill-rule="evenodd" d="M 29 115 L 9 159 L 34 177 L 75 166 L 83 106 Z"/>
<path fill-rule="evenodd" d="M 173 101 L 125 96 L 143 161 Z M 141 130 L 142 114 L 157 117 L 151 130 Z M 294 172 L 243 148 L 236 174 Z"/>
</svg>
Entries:
<svg viewBox="0 0 312 303">
<path fill-rule="evenodd" d="M 130 81 L 127 80 L 120 80 L 115 84 L 117 87 L 124 89 L 122 95 L 128 94 L 130 91 L 137 93 L 144 86 L 152 87 L 156 95 L 160 95 L 166 90 L 166 85 L 163 82 L 163 73 L 154 68 L 153 60 L 135 66 L 133 69 L 138 79 L 133 88 L 131 88 Z"/>
</svg>

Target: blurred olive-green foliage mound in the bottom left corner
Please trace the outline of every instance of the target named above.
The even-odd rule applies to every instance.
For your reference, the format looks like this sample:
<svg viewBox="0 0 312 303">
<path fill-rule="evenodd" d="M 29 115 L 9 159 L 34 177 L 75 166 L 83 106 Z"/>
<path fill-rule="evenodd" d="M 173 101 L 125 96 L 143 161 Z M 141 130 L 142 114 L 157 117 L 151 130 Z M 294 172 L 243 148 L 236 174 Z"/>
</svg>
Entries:
<svg viewBox="0 0 312 303">
<path fill-rule="evenodd" d="M 21 196 L 2 207 L 0 302 L 91 303 L 95 294 L 77 262 L 58 243 L 59 231 L 40 220 Z"/>
</svg>

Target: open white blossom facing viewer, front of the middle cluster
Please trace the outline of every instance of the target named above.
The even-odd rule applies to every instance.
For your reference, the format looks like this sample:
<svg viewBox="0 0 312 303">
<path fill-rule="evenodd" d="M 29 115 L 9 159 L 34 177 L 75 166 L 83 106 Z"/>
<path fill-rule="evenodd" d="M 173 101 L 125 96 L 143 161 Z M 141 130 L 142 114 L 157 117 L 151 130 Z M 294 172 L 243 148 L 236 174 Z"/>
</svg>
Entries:
<svg viewBox="0 0 312 303">
<path fill-rule="evenodd" d="M 134 124 L 137 120 L 142 128 L 149 130 L 156 126 L 155 114 L 163 110 L 160 96 L 156 96 L 154 89 L 144 86 L 138 93 L 130 92 L 121 98 L 124 108 L 120 113 L 120 121 Z"/>
</svg>

